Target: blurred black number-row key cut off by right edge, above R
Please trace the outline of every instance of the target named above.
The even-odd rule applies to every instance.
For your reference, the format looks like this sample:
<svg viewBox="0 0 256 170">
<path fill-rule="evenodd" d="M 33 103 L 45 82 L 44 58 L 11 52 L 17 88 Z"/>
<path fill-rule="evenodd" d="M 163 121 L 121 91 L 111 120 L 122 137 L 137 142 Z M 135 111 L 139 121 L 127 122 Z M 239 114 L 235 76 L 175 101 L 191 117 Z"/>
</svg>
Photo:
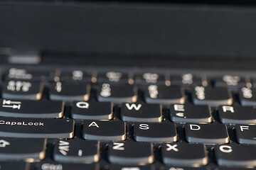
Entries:
<svg viewBox="0 0 256 170">
<path fill-rule="evenodd" d="M 256 89 L 243 87 L 239 91 L 239 98 L 242 106 L 256 106 Z"/>
</svg>

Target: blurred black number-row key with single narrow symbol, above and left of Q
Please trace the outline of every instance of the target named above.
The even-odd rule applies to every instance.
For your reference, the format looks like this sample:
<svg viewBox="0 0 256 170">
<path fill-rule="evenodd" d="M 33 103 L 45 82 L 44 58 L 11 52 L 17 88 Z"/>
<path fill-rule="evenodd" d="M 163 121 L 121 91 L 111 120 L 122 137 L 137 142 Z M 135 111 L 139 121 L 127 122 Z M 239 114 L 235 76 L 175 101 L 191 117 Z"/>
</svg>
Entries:
<svg viewBox="0 0 256 170">
<path fill-rule="evenodd" d="M 88 101 L 90 84 L 64 84 L 60 81 L 50 86 L 50 100 L 53 101 Z"/>
</svg>

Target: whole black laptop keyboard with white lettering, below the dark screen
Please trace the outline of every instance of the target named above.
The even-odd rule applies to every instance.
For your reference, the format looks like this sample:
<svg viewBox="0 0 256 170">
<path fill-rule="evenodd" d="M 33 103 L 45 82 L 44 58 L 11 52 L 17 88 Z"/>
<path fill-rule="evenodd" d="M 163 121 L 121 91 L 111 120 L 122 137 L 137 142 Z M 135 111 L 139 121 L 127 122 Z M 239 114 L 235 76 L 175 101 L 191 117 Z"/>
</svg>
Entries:
<svg viewBox="0 0 256 170">
<path fill-rule="evenodd" d="M 0 169 L 256 167 L 253 77 L 9 68 Z"/>
</svg>

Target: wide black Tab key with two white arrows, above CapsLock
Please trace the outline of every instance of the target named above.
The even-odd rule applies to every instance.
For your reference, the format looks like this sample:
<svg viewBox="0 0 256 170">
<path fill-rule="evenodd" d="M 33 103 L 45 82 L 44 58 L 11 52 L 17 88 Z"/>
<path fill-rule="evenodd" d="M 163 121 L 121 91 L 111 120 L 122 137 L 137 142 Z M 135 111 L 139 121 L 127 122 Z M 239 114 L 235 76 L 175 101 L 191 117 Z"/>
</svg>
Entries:
<svg viewBox="0 0 256 170">
<path fill-rule="evenodd" d="M 26 101 L 0 99 L 0 116 L 16 118 L 62 118 L 62 101 Z"/>
</svg>

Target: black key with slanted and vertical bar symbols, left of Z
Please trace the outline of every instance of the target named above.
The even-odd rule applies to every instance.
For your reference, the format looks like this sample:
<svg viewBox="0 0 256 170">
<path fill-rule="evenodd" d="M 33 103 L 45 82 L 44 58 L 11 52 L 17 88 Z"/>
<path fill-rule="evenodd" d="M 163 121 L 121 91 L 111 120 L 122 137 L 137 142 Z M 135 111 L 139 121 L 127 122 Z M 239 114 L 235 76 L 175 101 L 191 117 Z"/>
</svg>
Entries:
<svg viewBox="0 0 256 170">
<path fill-rule="evenodd" d="M 98 162 L 100 160 L 99 143 L 85 140 L 59 140 L 54 147 L 53 159 L 66 163 Z"/>
</svg>

